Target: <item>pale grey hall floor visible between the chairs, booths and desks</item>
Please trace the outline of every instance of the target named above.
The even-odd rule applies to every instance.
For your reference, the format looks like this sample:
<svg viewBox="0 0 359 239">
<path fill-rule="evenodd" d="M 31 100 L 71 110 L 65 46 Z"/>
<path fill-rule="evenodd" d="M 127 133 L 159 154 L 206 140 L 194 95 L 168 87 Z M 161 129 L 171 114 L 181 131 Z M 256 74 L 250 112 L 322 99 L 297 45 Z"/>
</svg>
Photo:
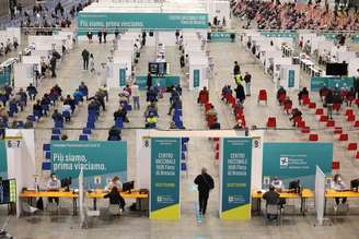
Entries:
<svg viewBox="0 0 359 239">
<path fill-rule="evenodd" d="M 97 43 L 89 45 L 88 43 L 79 43 L 77 47 L 69 53 L 67 59 L 59 65 L 58 77 L 56 80 L 46 79 L 42 83 L 40 92 L 47 92 L 55 83 L 59 83 L 65 89 L 65 93 L 72 93 L 81 81 L 86 82 L 90 87 L 90 94 L 99 87 L 101 76 L 91 74 L 81 70 L 81 51 L 88 48 L 94 53 L 96 68 L 100 62 L 104 62 L 109 55 L 109 45 L 99 45 Z M 178 51 L 169 47 L 166 53 L 171 61 L 172 71 L 174 74 L 183 74 L 178 65 Z M 219 110 L 219 120 L 222 128 L 232 128 L 234 118 L 231 115 L 230 108 L 221 103 L 221 87 L 232 81 L 232 65 L 234 60 L 241 64 L 242 71 L 250 71 L 253 75 L 252 95 L 245 101 L 245 116 L 248 126 L 264 127 L 268 116 L 277 117 L 277 124 L 281 128 L 290 128 L 288 117 L 280 110 L 275 101 L 275 86 L 268 75 L 263 73 L 263 69 L 256 63 L 254 58 L 245 51 L 240 43 L 234 44 L 211 44 L 211 56 L 215 58 L 215 75 L 210 80 L 210 100 Z M 144 47 L 141 52 L 140 62 L 136 68 L 136 73 L 143 74 L 147 71 L 147 62 L 153 58 L 154 49 Z M 187 85 L 183 82 L 183 85 Z M 308 86 L 309 79 L 302 74 L 301 85 Z M 259 88 L 266 88 L 269 94 L 268 105 L 257 105 L 256 95 Z M 297 93 L 291 93 L 296 99 Z M 170 123 L 170 117 L 166 116 L 169 109 L 167 97 L 159 103 L 160 121 L 159 128 L 166 129 Z M 189 92 L 186 87 L 183 91 L 184 101 L 184 122 L 188 129 L 206 129 L 204 122 L 202 110 L 196 104 L 196 93 Z M 144 103 L 144 93 L 141 95 L 141 106 Z M 297 103 L 294 103 L 297 104 Z M 118 107 L 117 91 L 111 91 L 107 110 L 102 113 L 99 128 L 109 128 L 113 123 L 113 112 Z M 358 109 L 356 109 L 358 112 Z M 20 117 L 24 118 L 31 111 L 27 107 L 26 111 Z M 143 108 L 139 111 L 129 113 L 130 123 L 128 127 L 143 127 L 142 119 Z M 80 106 L 70 123 L 69 128 L 77 130 L 67 130 L 70 140 L 77 140 L 80 134 L 80 129 L 85 124 L 86 106 Z M 336 116 L 344 123 L 345 119 Z M 316 126 L 313 115 L 305 113 L 306 122 Z M 53 121 L 45 118 L 38 128 L 51 128 Z M 321 140 L 332 141 L 333 136 L 329 132 L 320 130 Z M 106 130 L 96 130 L 92 139 L 104 140 L 107 136 Z M 42 145 L 48 142 L 50 131 L 48 129 L 36 130 L 36 155 L 37 171 L 40 174 Z M 136 178 L 136 158 L 135 158 L 135 130 L 125 129 L 123 138 L 128 141 L 128 177 Z M 352 141 L 358 142 L 358 134 L 351 133 Z M 270 131 L 265 133 L 266 141 L 303 141 L 298 133 L 292 131 Z M 283 225 L 264 226 L 260 216 L 254 216 L 250 222 L 221 222 L 218 218 L 218 187 L 210 195 L 209 213 L 204 218 L 201 224 L 196 220 L 195 203 L 197 193 L 193 190 L 192 180 L 199 172 L 202 166 L 209 169 L 209 172 L 215 176 L 218 186 L 218 167 L 215 165 L 212 155 L 212 145 L 208 139 L 192 139 L 189 142 L 189 171 L 188 177 L 182 177 L 182 218 L 178 222 L 151 222 L 146 215 L 138 215 L 126 212 L 121 218 L 108 219 L 106 216 L 93 219 L 91 228 L 88 230 L 79 229 L 79 217 L 71 216 L 71 204 L 69 202 L 61 203 L 60 215 L 38 215 L 31 217 L 21 217 L 19 219 L 11 218 L 8 225 L 8 230 L 16 238 L 359 238 L 357 228 L 359 226 L 358 215 L 350 214 L 340 216 L 334 222 L 331 227 L 314 227 L 315 217 L 311 213 L 306 217 L 302 216 L 285 216 Z M 345 179 L 350 179 L 357 176 L 358 166 L 352 159 L 344 153 L 343 146 L 335 144 L 335 159 L 340 160 L 340 172 Z M 46 176 L 44 176 L 45 178 Z M 91 205 L 91 202 L 88 202 Z M 130 202 L 128 202 L 130 204 Z M 313 202 L 310 202 L 313 205 Z M 104 210 L 105 203 L 100 202 L 100 207 Z M 354 208 L 352 212 L 357 210 Z M 0 215 L 0 224 L 4 222 L 4 208 Z"/>
</svg>

